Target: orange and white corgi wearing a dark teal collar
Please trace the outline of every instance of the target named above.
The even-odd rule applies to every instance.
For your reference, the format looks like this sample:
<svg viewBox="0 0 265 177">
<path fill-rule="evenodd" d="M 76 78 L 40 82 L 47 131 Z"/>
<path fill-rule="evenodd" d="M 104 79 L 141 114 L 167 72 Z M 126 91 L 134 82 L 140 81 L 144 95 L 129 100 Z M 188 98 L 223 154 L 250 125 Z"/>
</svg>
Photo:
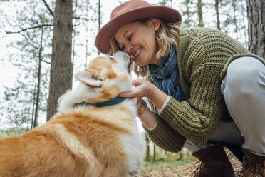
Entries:
<svg viewBox="0 0 265 177">
<path fill-rule="evenodd" d="M 58 100 L 50 121 L 0 139 L 0 177 L 129 177 L 141 170 L 145 142 L 137 128 L 128 54 L 98 56 L 76 74 L 80 84 Z"/>
</svg>

